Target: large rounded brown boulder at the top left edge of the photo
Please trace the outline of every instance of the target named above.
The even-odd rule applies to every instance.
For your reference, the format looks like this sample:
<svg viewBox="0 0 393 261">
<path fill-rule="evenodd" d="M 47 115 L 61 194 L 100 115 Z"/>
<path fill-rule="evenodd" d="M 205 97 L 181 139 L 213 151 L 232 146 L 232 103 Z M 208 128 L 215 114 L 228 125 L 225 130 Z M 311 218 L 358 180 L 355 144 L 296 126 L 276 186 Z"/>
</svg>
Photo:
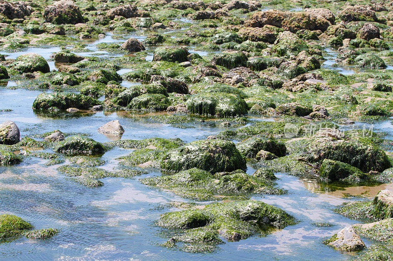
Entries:
<svg viewBox="0 0 393 261">
<path fill-rule="evenodd" d="M 79 24 L 84 23 L 81 10 L 72 0 L 56 1 L 45 7 L 43 17 L 52 24 Z"/>
</svg>

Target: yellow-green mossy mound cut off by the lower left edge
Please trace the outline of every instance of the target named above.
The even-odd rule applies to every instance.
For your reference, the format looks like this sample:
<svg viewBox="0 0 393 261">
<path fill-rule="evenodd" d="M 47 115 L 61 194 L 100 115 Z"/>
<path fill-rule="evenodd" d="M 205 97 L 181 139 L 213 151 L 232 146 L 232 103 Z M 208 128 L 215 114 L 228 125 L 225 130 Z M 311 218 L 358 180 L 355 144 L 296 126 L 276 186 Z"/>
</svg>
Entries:
<svg viewBox="0 0 393 261">
<path fill-rule="evenodd" d="M 0 215 L 0 238 L 4 239 L 7 237 L 18 236 L 25 230 L 31 229 L 33 226 L 22 218 L 10 215 Z"/>
</svg>

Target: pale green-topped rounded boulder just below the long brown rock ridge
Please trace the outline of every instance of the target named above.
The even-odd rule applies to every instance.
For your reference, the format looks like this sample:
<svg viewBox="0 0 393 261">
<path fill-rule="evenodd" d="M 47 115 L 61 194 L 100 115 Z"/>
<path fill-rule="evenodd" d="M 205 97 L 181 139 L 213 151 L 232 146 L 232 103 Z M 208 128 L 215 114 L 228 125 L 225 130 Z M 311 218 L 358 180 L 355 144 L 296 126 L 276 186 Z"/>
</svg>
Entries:
<svg viewBox="0 0 393 261">
<path fill-rule="evenodd" d="M 298 55 L 301 51 L 307 50 L 306 42 L 294 33 L 284 31 L 279 34 L 273 50 L 280 56 Z"/>
</svg>

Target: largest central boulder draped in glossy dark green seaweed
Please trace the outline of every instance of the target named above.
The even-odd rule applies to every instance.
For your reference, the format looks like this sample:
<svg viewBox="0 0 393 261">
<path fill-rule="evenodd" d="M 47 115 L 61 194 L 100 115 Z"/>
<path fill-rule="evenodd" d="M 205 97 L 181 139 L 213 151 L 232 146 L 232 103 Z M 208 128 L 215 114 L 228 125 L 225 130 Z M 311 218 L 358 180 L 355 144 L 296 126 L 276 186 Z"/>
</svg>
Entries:
<svg viewBox="0 0 393 261">
<path fill-rule="evenodd" d="M 200 140 L 170 150 L 161 160 L 161 168 L 179 172 L 197 167 L 212 173 L 246 169 L 246 160 L 233 142 Z"/>
</svg>

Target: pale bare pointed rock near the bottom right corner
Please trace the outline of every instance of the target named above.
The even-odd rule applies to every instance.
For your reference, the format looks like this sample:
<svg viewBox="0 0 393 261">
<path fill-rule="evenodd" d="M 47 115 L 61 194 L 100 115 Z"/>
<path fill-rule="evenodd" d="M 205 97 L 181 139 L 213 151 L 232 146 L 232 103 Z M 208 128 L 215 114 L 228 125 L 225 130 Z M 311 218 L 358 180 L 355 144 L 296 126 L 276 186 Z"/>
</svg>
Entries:
<svg viewBox="0 0 393 261">
<path fill-rule="evenodd" d="M 360 251 L 365 248 L 365 243 L 352 226 L 340 230 L 324 243 L 346 252 Z"/>
</svg>

